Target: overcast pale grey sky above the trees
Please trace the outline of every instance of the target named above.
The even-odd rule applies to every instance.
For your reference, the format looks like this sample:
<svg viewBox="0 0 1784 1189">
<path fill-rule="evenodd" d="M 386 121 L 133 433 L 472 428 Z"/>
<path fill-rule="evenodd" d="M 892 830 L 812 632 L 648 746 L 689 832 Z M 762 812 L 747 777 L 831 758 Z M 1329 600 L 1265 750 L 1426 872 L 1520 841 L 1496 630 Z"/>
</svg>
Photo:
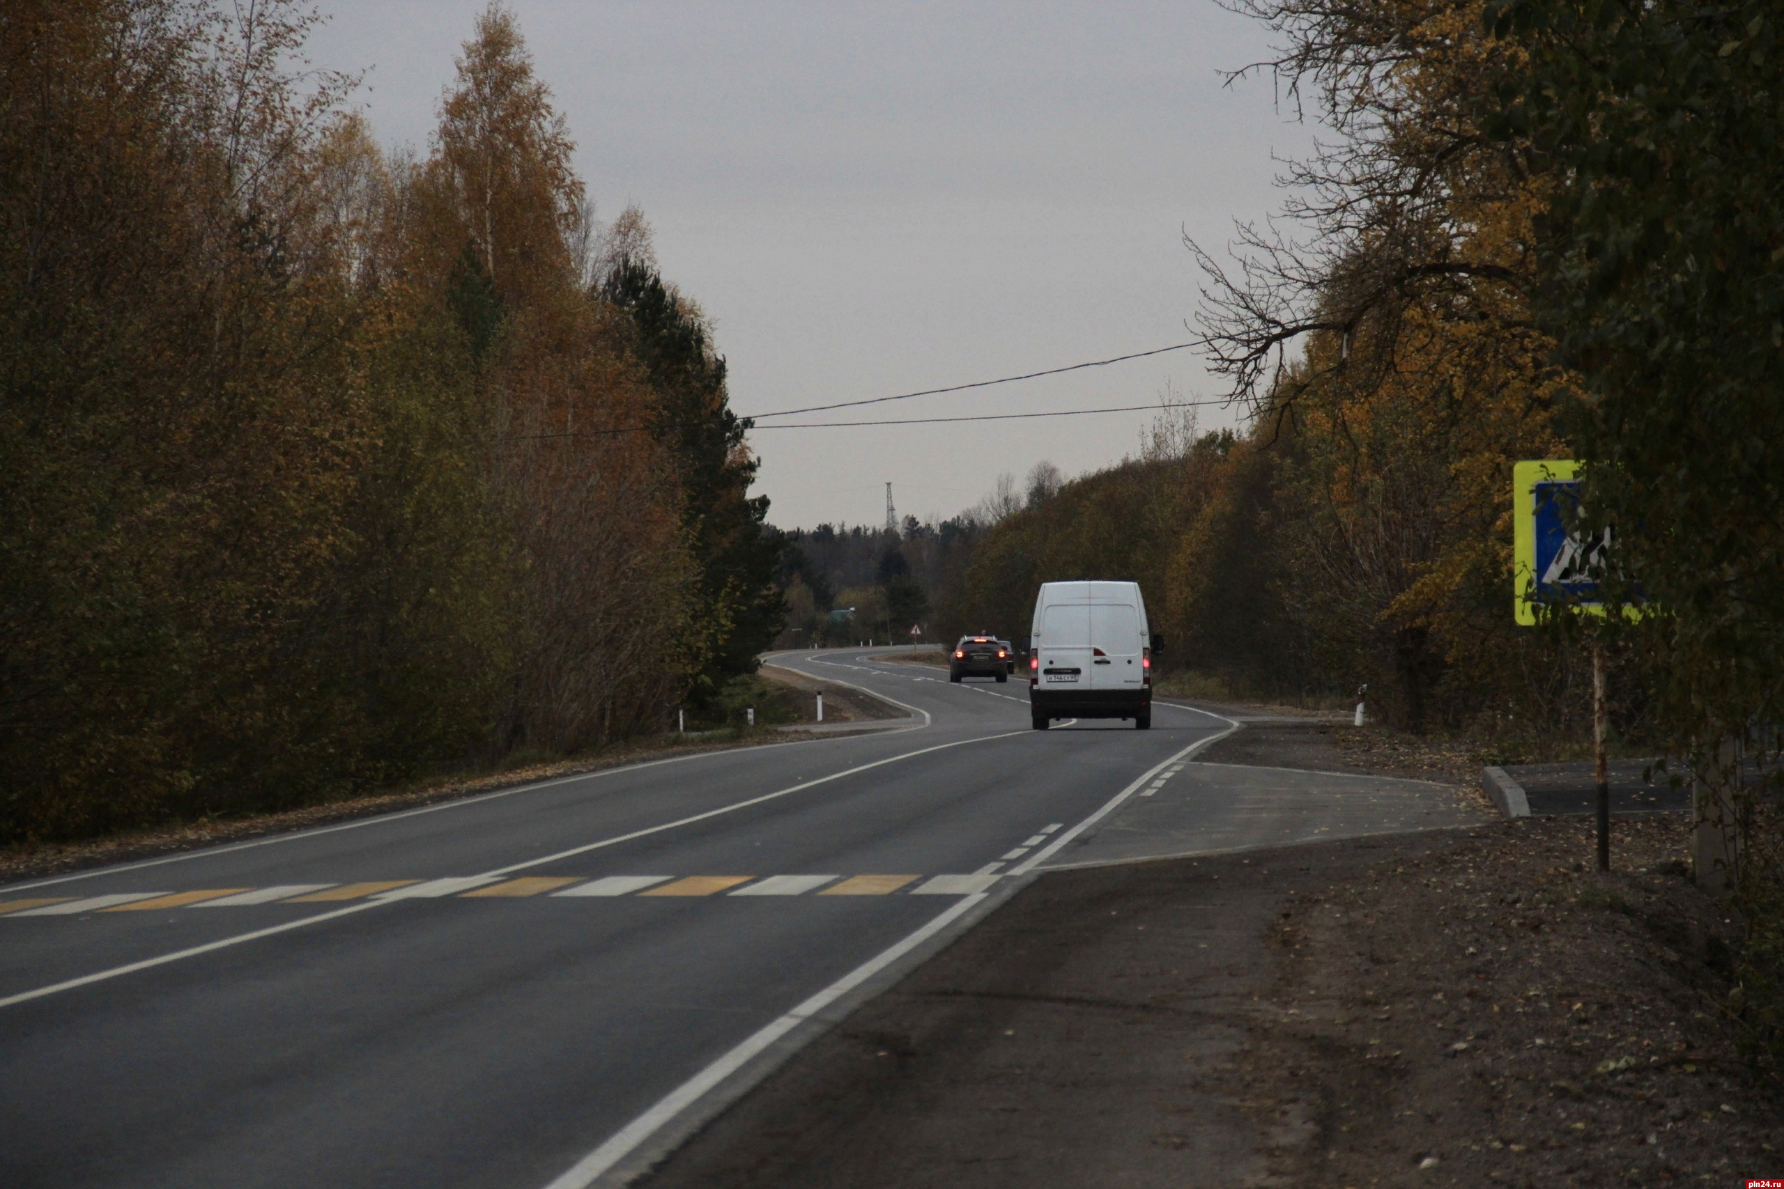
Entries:
<svg viewBox="0 0 1784 1189">
<path fill-rule="evenodd" d="M 644 209 L 664 275 L 717 323 L 742 414 L 1185 342 L 1183 234 L 1220 246 L 1261 219 L 1281 201 L 1272 152 L 1309 143 L 1268 77 L 1222 87 L 1267 30 L 1210 0 L 510 7 L 601 217 Z M 310 57 L 369 68 L 357 102 L 380 139 L 425 152 L 482 9 L 337 2 Z M 1142 405 L 1167 381 L 1220 394 L 1183 351 L 855 415 Z M 783 528 L 880 522 L 887 481 L 901 515 L 951 515 L 999 471 L 1119 462 L 1149 421 L 758 430 L 756 490 Z"/>
</svg>

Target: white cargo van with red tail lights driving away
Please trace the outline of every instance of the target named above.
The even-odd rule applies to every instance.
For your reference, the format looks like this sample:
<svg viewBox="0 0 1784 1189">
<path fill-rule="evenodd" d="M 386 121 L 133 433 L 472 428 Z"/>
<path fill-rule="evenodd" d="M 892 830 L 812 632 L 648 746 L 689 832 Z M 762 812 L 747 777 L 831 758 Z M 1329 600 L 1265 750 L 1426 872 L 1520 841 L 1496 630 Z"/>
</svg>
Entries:
<svg viewBox="0 0 1784 1189">
<path fill-rule="evenodd" d="M 1140 583 L 1044 583 L 1035 599 L 1028 699 L 1035 729 L 1053 718 L 1152 726 L 1152 654 Z"/>
</svg>

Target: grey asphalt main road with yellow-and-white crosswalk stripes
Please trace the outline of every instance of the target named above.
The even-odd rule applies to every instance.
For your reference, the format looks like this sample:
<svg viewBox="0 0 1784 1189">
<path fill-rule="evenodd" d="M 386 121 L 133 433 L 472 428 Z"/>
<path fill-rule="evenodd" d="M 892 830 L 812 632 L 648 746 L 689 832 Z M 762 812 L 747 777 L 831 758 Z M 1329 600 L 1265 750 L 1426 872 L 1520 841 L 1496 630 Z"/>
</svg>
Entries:
<svg viewBox="0 0 1784 1189">
<path fill-rule="evenodd" d="M 0 888 L 0 1185 L 619 1184 L 1238 729 L 774 660 L 912 718 Z M 1170 849 L 1375 811 L 1188 777 Z"/>
</svg>

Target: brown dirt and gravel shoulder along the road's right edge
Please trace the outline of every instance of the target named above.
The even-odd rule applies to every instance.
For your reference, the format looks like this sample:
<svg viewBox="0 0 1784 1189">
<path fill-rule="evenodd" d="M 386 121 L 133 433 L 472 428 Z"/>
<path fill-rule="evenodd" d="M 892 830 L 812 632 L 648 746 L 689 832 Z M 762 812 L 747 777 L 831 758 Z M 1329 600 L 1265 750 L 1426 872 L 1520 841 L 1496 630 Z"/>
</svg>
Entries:
<svg viewBox="0 0 1784 1189">
<path fill-rule="evenodd" d="M 1258 759 L 1358 758 L 1276 742 Z M 1598 875 L 1590 822 L 1547 818 L 1049 873 L 648 1184 L 1779 1177 L 1784 1103 L 1734 1041 L 1732 927 L 1684 845 L 1681 816 L 1620 820 Z"/>
</svg>

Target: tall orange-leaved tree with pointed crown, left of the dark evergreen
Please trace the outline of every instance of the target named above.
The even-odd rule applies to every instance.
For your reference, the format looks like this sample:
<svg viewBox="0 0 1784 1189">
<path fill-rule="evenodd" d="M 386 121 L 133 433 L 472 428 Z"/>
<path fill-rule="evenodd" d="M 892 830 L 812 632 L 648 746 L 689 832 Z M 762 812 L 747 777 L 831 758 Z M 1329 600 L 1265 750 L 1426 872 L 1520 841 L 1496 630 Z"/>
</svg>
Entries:
<svg viewBox="0 0 1784 1189">
<path fill-rule="evenodd" d="M 605 742 L 681 692 L 694 606 L 662 447 L 630 333 L 583 287 L 583 185 L 512 12 L 476 20 L 421 171 L 434 275 L 482 360 L 494 483 L 524 556 L 507 745 Z"/>
</svg>

